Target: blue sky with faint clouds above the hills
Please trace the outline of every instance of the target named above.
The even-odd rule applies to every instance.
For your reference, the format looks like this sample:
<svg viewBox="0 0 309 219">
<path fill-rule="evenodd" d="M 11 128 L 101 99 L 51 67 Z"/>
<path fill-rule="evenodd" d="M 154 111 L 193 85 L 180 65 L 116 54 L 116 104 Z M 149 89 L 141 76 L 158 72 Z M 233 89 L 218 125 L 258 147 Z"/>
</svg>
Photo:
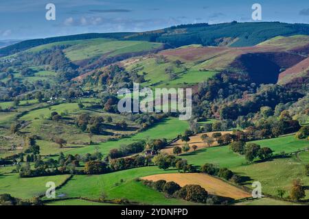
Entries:
<svg viewBox="0 0 309 219">
<path fill-rule="evenodd" d="M 56 7 L 54 21 L 45 18 L 47 3 Z M 0 40 L 256 22 L 253 3 L 262 6 L 262 21 L 309 23 L 308 0 L 0 0 Z"/>
</svg>

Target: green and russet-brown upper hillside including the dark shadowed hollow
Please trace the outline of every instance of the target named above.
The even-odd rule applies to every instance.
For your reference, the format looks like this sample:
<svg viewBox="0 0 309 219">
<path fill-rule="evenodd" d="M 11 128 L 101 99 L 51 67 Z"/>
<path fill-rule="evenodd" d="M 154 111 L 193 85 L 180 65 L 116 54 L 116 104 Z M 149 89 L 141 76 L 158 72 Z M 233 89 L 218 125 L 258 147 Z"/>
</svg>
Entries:
<svg viewBox="0 0 309 219">
<path fill-rule="evenodd" d="M 222 70 L 249 73 L 256 83 L 277 83 L 280 70 L 306 62 L 307 47 L 309 36 L 279 36 L 253 47 L 203 47 L 193 44 L 165 49 L 154 55 L 133 57 L 116 64 L 128 72 L 144 75 L 146 81 L 143 86 L 193 86 Z M 76 79 L 88 75 L 91 73 Z"/>
</svg>

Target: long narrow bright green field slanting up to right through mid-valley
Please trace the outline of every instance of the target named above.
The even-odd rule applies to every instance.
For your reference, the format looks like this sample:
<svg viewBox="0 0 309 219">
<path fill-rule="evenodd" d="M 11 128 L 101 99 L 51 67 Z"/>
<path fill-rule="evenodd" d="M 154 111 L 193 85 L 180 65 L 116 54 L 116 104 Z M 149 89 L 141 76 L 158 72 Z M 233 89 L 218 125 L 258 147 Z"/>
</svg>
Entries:
<svg viewBox="0 0 309 219">
<path fill-rule="evenodd" d="M 163 122 L 155 124 L 150 129 L 146 131 L 141 131 L 134 136 L 130 136 L 128 138 L 122 138 L 117 141 L 108 141 L 102 142 L 99 144 L 99 151 L 106 155 L 109 150 L 119 148 L 121 145 L 131 144 L 133 142 L 137 142 L 138 140 L 146 140 L 150 139 L 158 139 L 158 138 L 166 138 L 167 140 L 172 140 L 176 138 L 179 134 L 183 133 L 185 129 L 188 128 L 188 123 L 185 120 L 179 120 L 178 118 L 167 118 L 163 120 Z M 84 146 L 80 149 L 72 149 L 67 151 L 70 154 L 85 154 L 85 153 L 94 153 L 95 146 Z"/>
</svg>

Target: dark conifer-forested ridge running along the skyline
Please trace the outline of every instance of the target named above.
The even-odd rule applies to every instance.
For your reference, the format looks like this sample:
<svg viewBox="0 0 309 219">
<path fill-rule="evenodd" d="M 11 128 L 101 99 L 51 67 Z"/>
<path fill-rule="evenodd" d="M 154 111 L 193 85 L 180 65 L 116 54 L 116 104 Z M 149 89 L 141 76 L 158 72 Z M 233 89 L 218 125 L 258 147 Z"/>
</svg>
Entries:
<svg viewBox="0 0 309 219">
<path fill-rule="evenodd" d="M 221 23 L 208 25 L 179 25 L 165 29 L 140 33 L 106 33 L 78 34 L 45 39 L 25 40 L 0 49 L 0 56 L 11 55 L 32 47 L 52 42 L 69 40 L 87 40 L 93 38 L 113 38 L 116 40 L 144 40 L 162 42 L 172 47 L 187 44 L 203 44 L 204 46 L 229 45 L 231 47 L 249 47 L 275 36 L 292 36 L 309 34 L 307 24 L 288 24 L 279 22 L 261 23 Z"/>
</svg>

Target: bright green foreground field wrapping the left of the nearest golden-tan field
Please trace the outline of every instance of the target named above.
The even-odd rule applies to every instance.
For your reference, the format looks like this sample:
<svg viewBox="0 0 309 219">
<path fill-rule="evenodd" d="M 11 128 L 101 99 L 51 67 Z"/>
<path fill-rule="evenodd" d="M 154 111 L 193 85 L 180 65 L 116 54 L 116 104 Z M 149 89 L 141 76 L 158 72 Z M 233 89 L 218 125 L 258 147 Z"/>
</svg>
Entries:
<svg viewBox="0 0 309 219">
<path fill-rule="evenodd" d="M 165 198 L 161 192 L 143 185 L 135 179 L 147 175 L 176 170 L 160 170 L 157 166 L 133 168 L 104 175 L 76 175 L 57 191 L 65 197 L 99 198 L 104 194 L 107 199 L 127 198 L 129 201 L 150 205 L 187 205 L 187 201 Z"/>
</svg>

